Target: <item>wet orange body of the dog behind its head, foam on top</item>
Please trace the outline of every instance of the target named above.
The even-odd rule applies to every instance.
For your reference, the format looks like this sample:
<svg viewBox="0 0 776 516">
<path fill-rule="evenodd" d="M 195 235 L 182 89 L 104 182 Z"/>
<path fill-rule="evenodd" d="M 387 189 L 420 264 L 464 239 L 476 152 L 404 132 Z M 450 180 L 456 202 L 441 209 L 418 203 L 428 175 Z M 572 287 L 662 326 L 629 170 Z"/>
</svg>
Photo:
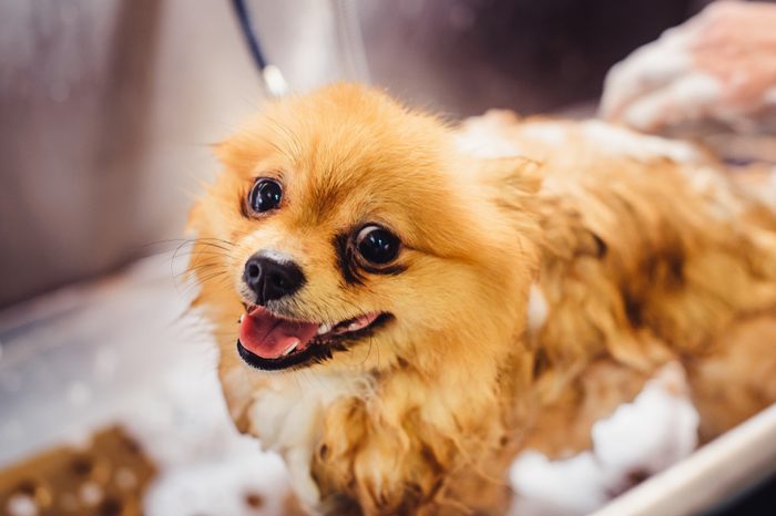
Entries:
<svg viewBox="0 0 776 516">
<path fill-rule="evenodd" d="M 461 134 L 542 176 L 545 317 L 527 332 L 542 404 L 589 382 L 602 357 L 644 373 L 681 360 L 706 438 L 776 401 L 775 173 L 729 172 L 692 144 L 598 121 L 494 112 Z M 543 434 L 532 444 L 568 448 L 568 432 Z"/>
</svg>

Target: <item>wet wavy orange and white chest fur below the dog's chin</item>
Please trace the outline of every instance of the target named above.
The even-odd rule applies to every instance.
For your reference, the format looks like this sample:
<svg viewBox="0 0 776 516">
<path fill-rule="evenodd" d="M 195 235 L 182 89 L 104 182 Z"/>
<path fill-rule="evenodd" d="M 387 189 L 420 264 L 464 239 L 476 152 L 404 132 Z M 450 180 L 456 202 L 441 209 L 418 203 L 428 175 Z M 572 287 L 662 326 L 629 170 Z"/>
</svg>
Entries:
<svg viewBox="0 0 776 516">
<path fill-rule="evenodd" d="M 492 338 L 519 347 L 514 336 L 523 323 L 524 314 Z M 379 373 L 269 375 L 252 393 L 248 430 L 284 455 L 308 507 L 345 514 L 357 503 L 356 514 L 404 514 L 431 499 L 443 504 L 451 472 L 479 471 L 491 485 L 499 475 L 483 469 L 482 457 L 510 441 L 514 394 L 530 392 L 530 357 L 509 353 L 499 363 L 483 354 L 481 363 L 456 365 L 440 355 Z"/>
</svg>

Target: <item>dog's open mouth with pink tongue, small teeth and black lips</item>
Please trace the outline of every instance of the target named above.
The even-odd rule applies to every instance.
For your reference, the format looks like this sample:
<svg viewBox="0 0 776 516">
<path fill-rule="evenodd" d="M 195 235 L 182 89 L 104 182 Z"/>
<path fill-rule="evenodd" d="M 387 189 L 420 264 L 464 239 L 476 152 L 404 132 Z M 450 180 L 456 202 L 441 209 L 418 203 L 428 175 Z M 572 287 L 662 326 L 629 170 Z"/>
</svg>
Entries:
<svg viewBox="0 0 776 516">
<path fill-rule="evenodd" d="M 367 337 L 388 313 L 370 312 L 336 324 L 284 319 L 264 307 L 252 307 L 239 321 L 237 351 L 249 365 L 280 370 L 320 362 L 346 342 Z"/>
</svg>

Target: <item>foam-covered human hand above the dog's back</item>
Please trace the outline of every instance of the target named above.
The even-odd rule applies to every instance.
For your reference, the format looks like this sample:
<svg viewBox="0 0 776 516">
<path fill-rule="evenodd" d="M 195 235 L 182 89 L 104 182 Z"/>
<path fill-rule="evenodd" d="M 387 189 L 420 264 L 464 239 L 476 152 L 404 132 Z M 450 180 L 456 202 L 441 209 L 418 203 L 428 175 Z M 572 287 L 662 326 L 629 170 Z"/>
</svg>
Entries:
<svg viewBox="0 0 776 516">
<path fill-rule="evenodd" d="M 601 115 L 651 133 L 776 132 L 776 4 L 722 1 L 609 72 Z"/>
</svg>

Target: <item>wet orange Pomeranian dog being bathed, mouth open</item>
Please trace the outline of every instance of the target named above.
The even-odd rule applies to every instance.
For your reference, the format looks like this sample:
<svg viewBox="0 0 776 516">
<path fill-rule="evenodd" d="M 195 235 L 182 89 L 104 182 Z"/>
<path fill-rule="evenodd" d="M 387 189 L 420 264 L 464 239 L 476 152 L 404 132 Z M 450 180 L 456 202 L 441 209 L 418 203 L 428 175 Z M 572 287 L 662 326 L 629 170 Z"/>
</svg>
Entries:
<svg viewBox="0 0 776 516">
<path fill-rule="evenodd" d="M 502 514 L 518 451 L 585 448 L 671 361 L 702 438 L 776 400 L 767 175 L 351 84 L 272 102 L 216 151 L 194 303 L 237 426 L 313 513 Z"/>
</svg>

